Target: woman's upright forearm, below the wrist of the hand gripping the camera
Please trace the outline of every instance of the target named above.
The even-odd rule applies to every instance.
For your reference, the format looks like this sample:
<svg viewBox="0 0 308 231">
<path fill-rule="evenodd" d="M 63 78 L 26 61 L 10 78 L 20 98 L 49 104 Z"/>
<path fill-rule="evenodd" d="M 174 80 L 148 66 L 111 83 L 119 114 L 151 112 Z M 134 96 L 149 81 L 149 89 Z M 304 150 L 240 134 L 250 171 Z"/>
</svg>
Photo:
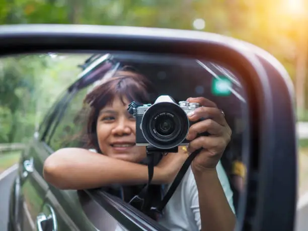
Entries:
<svg viewBox="0 0 308 231">
<path fill-rule="evenodd" d="M 201 230 L 233 231 L 236 216 L 229 206 L 215 170 L 194 173 L 201 216 Z"/>
</svg>

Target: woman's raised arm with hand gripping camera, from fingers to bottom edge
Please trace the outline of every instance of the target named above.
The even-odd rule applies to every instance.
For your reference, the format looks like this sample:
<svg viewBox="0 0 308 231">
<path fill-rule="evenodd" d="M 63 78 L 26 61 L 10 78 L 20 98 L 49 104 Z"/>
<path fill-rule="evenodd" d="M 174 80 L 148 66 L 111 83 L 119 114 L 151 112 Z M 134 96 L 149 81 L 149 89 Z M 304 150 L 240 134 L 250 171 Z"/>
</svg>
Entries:
<svg viewBox="0 0 308 231">
<path fill-rule="evenodd" d="M 232 231 L 236 216 L 229 206 L 216 171 L 232 131 L 223 113 L 213 102 L 203 97 L 189 98 L 188 101 L 203 106 L 189 115 L 189 119 L 196 123 L 189 128 L 187 136 L 191 140 L 188 146 L 190 152 L 201 149 L 191 164 L 198 189 L 201 230 Z M 208 136 L 197 136 L 205 131 L 209 133 Z"/>
</svg>

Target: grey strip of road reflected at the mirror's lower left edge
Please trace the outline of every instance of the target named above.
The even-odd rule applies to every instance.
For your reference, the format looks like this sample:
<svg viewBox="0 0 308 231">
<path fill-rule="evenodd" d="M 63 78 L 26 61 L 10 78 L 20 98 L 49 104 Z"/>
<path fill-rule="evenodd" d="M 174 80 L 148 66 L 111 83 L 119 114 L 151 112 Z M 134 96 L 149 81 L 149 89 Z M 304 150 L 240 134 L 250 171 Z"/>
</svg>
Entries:
<svg viewBox="0 0 308 231">
<path fill-rule="evenodd" d="M 5 177 L 0 175 L 0 230 L 7 230 L 10 190 L 16 175 L 16 168 Z"/>
</svg>

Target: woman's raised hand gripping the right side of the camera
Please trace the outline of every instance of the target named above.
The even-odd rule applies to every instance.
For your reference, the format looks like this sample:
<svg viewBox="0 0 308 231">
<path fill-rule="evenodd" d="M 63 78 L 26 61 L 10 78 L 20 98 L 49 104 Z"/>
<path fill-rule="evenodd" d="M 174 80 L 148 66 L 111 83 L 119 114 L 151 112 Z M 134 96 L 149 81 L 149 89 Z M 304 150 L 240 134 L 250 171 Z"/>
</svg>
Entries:
<svg viewBox="0 0 308 231">
<path fill-rule="evenodd" d="M 193 160 L 193 172 L 214 170 L 222 153 L 230 141 L 232 131 L 225 121 L 224 114 L 212 101 L 203 97 L 188 98 L 190 103 L 199 103 L 200 106 L 188 115 L 190 121 L 199 121 L 189 128 L 187 139 L 190 140 L 188 151 L 193 152 L 202 148 Z M 198 133 L 208 132 L 209 136 L 199 136 Z"/>
</svg>

